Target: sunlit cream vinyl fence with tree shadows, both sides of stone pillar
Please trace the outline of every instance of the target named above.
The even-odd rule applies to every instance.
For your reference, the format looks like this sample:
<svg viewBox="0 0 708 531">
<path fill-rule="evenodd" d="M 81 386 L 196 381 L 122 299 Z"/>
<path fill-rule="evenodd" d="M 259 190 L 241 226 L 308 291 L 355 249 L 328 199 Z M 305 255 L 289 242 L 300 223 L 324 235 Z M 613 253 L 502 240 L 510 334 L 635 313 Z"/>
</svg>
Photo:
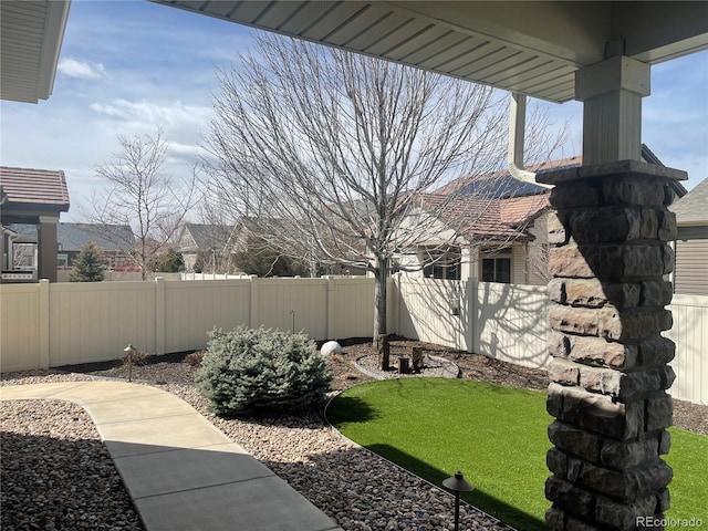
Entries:
<svg viewBox="0 0 708 531">
<path fill-rule="evenodd" d="M 546 367 L 545 287 L 406 278 L 396 283 L 400 335 Z M 674 326 L 665 335 L 676 343 L 670 363 L 676 381 L 669 392 L 674 398 L 708 404 L 708 296 L 675 294 L 668 309 Z"/>
</svg>

